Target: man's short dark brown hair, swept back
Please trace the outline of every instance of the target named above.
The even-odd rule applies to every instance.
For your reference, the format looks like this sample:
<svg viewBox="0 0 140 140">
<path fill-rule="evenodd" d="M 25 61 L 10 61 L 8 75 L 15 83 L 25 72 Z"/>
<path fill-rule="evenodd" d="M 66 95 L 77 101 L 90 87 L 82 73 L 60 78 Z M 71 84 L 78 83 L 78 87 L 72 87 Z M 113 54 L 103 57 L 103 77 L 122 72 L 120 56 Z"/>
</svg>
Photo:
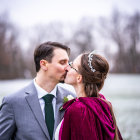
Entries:
<svg viewBox="0 0 140 140">
<path fill-rule="evenodd" d="M 52 61 L 53 52 L 55 48 L 64 49 L 68 55 L 70 55 L 70 48 L 66 45 L 60 44 L 58 42 L 45 42 L 39 45 L 34 51 L 34 62 L 36 66 L 36 72 L 40 70 L 40 60 L 45 59 L 49 63 Z"/>
</svg>

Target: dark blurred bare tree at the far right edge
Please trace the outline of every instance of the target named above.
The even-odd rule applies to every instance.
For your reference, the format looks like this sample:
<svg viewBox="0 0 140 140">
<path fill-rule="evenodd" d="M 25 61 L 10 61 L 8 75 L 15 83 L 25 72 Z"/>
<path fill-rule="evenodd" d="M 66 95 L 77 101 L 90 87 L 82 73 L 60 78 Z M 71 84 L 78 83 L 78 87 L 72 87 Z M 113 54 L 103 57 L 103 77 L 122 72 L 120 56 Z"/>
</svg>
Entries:
<svg viewBox="0 0 140 140">
<path fill-rule="evenodd" d="M 127 60 L 128 72 L 138 73 L 140 72 L 140 14 L 135 13 L 134 15 L 128 17 L 128 24 L 125 28 L 126 34 L 128 35 L 127 42 Z"/>
</svg>

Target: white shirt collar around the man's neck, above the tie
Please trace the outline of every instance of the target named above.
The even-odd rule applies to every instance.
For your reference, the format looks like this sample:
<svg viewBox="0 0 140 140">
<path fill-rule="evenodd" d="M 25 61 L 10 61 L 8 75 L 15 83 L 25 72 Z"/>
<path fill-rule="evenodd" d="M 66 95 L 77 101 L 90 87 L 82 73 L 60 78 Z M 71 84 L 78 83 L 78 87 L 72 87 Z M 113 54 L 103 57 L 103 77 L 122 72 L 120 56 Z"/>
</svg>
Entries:
<svg viewBox="0 0 140 140">
<path fill-rule="evenodd" d="M 35 85 L 35 88 L 37 90 L 37 95 L 38 95 L 38 98 L 41 99 L 43 96 L 45 96 L 46 94 L 52 94 L 56 97 L 56 90 L 57 90 L 57 85 L 55 86 L 55 88 L 50 92 L 48 93 L 47 91 L 45 91 L 43 88 L 41 88 L 35 81 L 34 79 L 34 85 Z"/>
</svg>

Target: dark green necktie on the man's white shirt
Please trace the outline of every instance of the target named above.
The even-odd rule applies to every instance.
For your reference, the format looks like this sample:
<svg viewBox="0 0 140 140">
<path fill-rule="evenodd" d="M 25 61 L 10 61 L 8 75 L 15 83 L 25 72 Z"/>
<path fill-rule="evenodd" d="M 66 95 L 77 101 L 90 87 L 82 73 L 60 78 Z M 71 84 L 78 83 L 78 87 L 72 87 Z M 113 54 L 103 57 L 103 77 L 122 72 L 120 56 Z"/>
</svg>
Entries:
<svg viewBox="0 0 140 140">
<path fill-rule="evenodd" d="M 47 94 L 42 98 L 45 101 L 45 122 L 48 128 L 50 138 L 52 140 L 53 130 L 54 130 L 54 112 L 53 112 L 52 100 L 54 98 L 54 95 Z"/>
</svg>

